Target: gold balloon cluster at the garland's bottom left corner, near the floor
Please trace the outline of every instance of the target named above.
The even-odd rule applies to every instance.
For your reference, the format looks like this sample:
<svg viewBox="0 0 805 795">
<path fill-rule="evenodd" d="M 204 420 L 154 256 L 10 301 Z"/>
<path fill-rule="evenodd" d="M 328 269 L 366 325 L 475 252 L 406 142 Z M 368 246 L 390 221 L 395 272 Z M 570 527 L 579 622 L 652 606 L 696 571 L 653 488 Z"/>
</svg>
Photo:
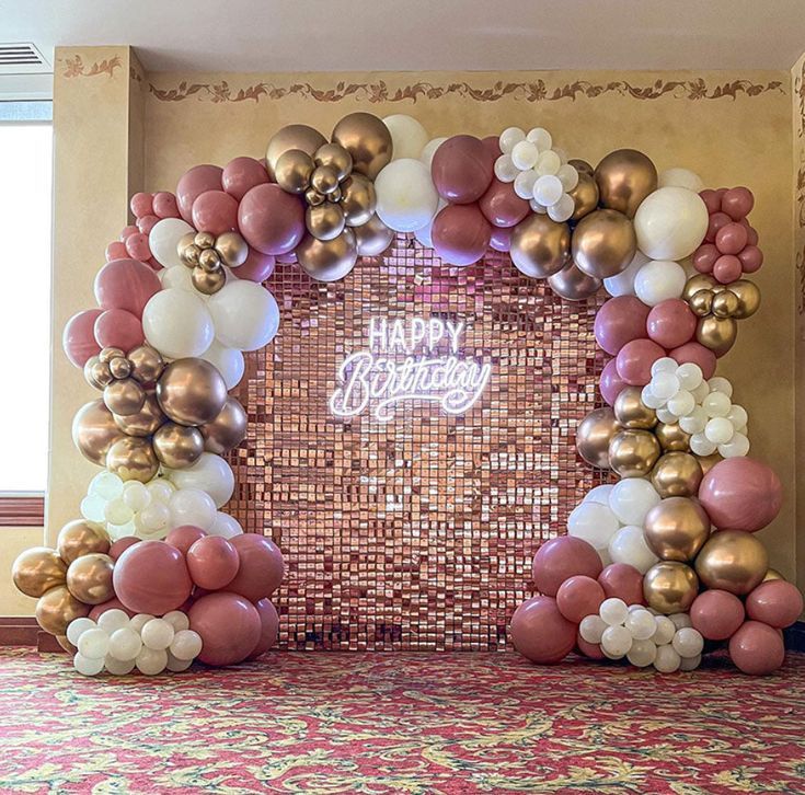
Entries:
<svg viewBox="0 0 805 795">
<path fill-rule="evenodd" d="M 34 546 L 14 561 L 14 585 L 38 600 L 36 621 L 67 650 L 67 625 L 115 596 L 110 546 L 102 527 L 79 519 L 61 528 L 55 550 Z"/>
</svg>

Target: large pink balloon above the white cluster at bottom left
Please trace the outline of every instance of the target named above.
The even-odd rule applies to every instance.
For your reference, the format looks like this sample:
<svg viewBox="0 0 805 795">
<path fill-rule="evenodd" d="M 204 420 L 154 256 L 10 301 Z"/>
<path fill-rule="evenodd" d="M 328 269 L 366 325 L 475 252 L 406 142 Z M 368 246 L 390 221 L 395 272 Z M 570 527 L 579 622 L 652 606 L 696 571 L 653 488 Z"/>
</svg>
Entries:
<svg viewBox="0 0 805 795">
<path fill-rule="evenodd" d="M 193 589 L 184 555 L 164 541 L 141 541 L 115 563 L 117 598 L 137 613 L 164 615 L 183 604 Z"/>
</svg>

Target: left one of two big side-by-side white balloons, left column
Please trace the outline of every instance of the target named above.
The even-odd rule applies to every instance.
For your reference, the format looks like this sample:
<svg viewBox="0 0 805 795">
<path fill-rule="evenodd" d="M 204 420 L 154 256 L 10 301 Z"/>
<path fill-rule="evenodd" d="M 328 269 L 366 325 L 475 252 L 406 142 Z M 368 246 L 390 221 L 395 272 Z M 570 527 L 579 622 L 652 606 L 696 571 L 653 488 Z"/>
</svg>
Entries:
<svg viewBox="0 0 805 795">
<path fill-rule="evenodd" d="M 207 304 L 197 293 L 175 287 L 151 297 L 142 310 L 142 331 L 148 343 L 170 359 L 200 356 L 215 337 Z"/>
</svg>

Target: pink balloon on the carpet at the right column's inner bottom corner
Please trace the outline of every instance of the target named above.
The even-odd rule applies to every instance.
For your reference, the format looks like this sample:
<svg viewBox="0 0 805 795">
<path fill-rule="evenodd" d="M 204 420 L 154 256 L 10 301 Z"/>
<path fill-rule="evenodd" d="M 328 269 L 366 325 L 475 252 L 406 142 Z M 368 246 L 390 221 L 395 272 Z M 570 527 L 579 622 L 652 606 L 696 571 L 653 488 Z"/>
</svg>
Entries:
<svg viewBox="0 0 805 795">
<path fill-rule="evenodd" d="M 547 596 L 526 599 L 511 617 L 510 631 L 515 648 L 532 662 L 560 662 L 576 645 L 576 625 Z"/>
</svg>

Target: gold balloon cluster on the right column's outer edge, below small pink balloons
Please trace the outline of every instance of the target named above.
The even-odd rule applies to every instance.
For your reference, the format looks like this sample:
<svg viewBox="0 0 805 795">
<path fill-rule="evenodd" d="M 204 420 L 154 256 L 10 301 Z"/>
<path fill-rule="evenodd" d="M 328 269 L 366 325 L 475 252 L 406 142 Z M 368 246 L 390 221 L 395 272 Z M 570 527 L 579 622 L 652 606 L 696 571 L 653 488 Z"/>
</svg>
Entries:
<svg viewBox="0 0 805 795">
<path fill-rule="evenodd" d="M 682 299 L 699 318 L 697 342 L 723 356 L 735 344 L 737 321 L 758 311 L 760 290 L 748 279 L 722 285 L 710 274 L 697 274 L 686 283 Z"/>
</svg>

